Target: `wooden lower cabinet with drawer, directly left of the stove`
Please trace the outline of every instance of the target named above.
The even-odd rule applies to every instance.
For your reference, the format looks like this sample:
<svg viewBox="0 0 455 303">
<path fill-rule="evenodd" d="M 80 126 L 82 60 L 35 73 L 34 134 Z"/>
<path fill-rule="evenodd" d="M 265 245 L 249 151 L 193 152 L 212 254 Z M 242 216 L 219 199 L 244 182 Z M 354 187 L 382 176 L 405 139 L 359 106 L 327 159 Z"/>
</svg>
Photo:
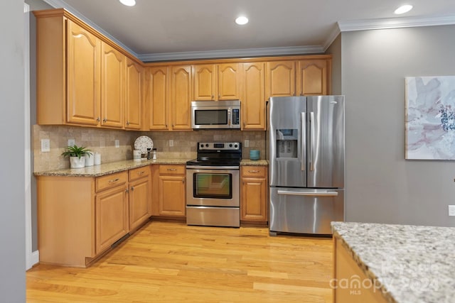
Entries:
<svg viewBox="0 0 455 303">
<path fill-rule="evenodd" d="M 185 165 L 153 165 L 153 216 L 185 218 Z"/>
</svg>

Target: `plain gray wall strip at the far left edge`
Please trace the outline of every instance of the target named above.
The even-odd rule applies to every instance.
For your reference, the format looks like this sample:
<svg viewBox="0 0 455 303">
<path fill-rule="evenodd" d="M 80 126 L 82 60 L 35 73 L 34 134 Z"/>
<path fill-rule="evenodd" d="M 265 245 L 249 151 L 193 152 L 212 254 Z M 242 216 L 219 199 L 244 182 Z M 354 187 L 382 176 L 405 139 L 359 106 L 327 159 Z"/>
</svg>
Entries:
<svg viewBox="0 0 455 303">
<path fill-rule="evenodd" d="M 23 1 L 0 1 L 0 301 L 26 301 Z"/>
</svg>

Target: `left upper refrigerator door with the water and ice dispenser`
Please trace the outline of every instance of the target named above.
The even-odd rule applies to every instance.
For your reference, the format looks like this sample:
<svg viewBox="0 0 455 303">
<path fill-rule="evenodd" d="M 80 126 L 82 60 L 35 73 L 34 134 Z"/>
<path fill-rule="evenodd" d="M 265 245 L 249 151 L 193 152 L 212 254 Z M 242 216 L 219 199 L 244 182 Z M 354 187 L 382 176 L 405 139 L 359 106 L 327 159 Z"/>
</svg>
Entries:
<svg viewBox="0 0 455 303">
<path fill-rule="evenodd" d="M 270 185 L 306 187 L 305 97 L 272 97 L 269 106 Z"/>
</svg>

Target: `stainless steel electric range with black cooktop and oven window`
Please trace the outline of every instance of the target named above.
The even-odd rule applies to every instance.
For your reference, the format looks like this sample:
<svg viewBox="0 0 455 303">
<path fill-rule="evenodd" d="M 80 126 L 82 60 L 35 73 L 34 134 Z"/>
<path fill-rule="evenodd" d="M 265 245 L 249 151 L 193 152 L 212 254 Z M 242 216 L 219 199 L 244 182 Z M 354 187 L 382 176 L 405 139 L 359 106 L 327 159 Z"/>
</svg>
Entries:
<svg viewBox="0 0 455 303">
<path fill-rule="evenodd" d="M 240 226 L 239 142 L 199 142 L 186 162 L 186 224 Z"/>
</svg>

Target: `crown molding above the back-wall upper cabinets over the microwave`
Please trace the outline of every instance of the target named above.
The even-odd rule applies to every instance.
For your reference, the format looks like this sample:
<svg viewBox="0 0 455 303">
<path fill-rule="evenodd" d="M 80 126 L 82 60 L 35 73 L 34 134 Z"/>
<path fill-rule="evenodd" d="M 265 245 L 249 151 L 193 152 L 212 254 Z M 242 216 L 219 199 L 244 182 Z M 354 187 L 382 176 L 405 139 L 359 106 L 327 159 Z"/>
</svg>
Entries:
<svg viewBox="0 0 455 303">
<path fill-rule="evenodd" d="M 144 62 L 213 59 L 227 57 L 262 57 L 274 55 L 299 55 L 323 53 L 321 46 L 291 46 L 286 48 L 247 48 L 244 50 L 210 50 L 200 52 L 157 53 L 139 55 L 139 60 Z"/>
</svg>

